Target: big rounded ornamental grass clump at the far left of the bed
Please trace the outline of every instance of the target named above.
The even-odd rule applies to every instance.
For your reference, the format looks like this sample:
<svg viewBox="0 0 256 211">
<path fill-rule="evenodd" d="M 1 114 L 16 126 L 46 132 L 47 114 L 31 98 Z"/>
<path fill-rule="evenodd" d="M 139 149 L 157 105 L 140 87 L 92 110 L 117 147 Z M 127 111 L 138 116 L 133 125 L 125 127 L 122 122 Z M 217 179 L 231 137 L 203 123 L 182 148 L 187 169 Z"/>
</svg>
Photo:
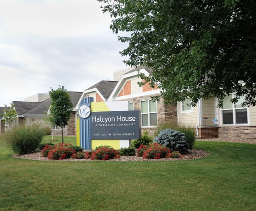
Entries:
<svg viewBox="0 0 256 211">
<path fill-rule="evenodd" d="M 26 126 L 14 128 L 7 132 L 6 141 L 13 151 L 19 155 L 35 152 L 44 136 L 44 131 L 38 127 Z"/>
</svg>

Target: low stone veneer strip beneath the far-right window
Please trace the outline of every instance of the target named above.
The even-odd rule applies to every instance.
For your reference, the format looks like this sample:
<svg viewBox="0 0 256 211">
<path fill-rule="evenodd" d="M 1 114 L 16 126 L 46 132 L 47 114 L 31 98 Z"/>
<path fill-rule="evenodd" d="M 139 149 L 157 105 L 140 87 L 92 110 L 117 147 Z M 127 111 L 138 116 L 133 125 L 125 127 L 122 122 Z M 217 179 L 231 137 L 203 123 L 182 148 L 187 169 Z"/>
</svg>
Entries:
<svg viewBox="0 0 256 211">
<path fill-rule="evenodd" d="M 256 139 L 256 126 L 219 127 L 219 138 Z"/>
</svg>

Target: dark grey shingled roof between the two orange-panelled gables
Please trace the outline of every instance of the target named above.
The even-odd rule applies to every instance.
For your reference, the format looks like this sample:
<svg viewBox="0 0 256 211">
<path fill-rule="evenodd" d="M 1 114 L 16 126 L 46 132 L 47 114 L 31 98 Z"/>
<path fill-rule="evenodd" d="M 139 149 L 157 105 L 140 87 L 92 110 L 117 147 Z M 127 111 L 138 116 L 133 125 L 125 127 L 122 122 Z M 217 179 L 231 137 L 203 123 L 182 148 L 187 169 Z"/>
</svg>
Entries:
<svg viewBox="0 0 256 211">
<path fill-rule="evenodd" d="M 91 86 L 85 91 L 96 88 L 105 99 L 108 99 L 108 97 L 111 95 L 117 83 L 118 83 L 117 81 L 113 81 L 113 80 L 101 80 L 100 82 Z"/>
</svg>

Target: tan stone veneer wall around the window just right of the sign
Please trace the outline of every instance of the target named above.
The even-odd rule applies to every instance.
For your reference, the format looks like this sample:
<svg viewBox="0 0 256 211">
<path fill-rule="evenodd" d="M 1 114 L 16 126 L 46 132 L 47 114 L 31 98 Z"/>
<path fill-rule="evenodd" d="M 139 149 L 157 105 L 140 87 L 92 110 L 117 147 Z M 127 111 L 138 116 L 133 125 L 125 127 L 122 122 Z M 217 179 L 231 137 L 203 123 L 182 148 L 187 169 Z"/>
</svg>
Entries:
<svg viewBox="0 0 256 211">
<path fill-rule="evenodd" d="M 150 100 L 151 96 L 143 96 L 143 97 L 135 97 L 130 99 L 125 99 L 130 102 L 133 102 L 134 110 L 141 110 L 141 101 L 142 100 Z M 157 124 L 166 124 L 166 123 L 174 123 L 177 125 L 177 105 L 166 105 L 164 104 L 164 100 L 160 98 L 159 102 L 157 102 Z M 150 136 L 153 136 L 157 127 L 142 127 L 141 132 L 147 131 Z"/>
</svg>

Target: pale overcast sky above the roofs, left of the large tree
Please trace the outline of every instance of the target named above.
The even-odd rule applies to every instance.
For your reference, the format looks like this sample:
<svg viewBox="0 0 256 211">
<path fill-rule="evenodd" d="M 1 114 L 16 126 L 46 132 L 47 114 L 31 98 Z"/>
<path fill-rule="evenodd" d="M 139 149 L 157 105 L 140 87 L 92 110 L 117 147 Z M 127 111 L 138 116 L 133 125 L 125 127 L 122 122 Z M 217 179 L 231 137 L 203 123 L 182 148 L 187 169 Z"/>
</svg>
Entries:
<svg viewBox="0 0 256 211">
<path fill-rule="evenodd" d="M 84 91 L 129 68 L 96 0 L 0 0 L 0 107 L 52 87 Z"/>
</svg>

